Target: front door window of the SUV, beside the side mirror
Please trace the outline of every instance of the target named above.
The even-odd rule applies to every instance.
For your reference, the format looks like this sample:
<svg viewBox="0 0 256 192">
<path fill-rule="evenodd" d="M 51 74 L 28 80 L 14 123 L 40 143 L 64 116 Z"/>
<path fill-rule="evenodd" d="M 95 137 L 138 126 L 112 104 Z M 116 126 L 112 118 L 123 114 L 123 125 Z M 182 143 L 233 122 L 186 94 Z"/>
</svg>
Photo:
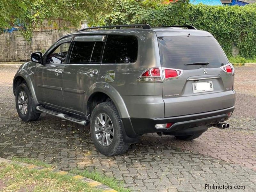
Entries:
<svg viewBox="0 0 256 192">
<path fill-rule="evenodd" d="M 46 59 L 46 63 L 64 63 L 67 57 L 70 42 L 60 44 Z"/>
</svg>

